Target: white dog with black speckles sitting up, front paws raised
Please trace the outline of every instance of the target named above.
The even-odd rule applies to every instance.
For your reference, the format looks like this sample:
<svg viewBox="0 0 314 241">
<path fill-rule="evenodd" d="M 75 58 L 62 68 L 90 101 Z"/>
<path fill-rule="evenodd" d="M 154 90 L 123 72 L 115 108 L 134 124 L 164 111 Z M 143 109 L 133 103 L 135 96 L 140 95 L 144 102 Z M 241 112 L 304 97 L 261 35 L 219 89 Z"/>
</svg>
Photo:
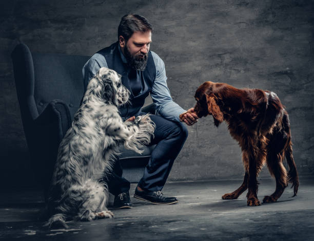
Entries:
<svg viewBox="0 0 314 241">
<path fill-rule="evenodd" d="M 115 160 L 119 143 L 135 152 L 149 144 L 154 124 L 148 115 L 123 122 L 117 106 L 130 92 L 114 70 L 101 68 L 90 80 L 81 107 L 62 140 L 51 181 L 46 226 L 66 220 L 111 218 L 106 208 L 108 190 L 99 180 Z"/>
</svg>

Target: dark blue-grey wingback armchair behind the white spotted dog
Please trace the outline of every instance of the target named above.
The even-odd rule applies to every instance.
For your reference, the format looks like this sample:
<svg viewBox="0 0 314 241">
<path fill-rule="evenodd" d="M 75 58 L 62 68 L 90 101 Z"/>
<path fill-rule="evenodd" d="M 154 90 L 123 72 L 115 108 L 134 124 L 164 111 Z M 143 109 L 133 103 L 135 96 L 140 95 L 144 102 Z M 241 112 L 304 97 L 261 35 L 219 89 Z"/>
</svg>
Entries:
<svg viewBox="0 0 314 241">
<path fill-rule="evenodd" d="M 14 79 L 24 132 L 38 182 L 47 190 L 58 145 L 84 94 L 82 67 L 87 56 L 32 53 L 25 44 L 12 52 Z M 154 113 L 153 105 L 144 112 Z M 122 150 L 124 177 L 139 181 L 152 146 L 142 155 Z"/>
</svg>

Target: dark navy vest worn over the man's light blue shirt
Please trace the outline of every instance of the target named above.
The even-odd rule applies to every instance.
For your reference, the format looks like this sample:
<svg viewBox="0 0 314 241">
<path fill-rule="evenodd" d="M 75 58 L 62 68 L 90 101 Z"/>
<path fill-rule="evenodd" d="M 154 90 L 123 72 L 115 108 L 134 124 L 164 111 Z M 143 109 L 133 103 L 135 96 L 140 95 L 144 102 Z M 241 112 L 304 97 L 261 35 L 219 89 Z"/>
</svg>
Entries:
<svg viewBox="0 0 314 241">
<path fill-rule="evenodd" d="M 122 84 L 127 87 L 130 92 L 130 103 L 123 105 L 119 108 L 120 115 L 122 117 L 138 116 L 141 113 L 141 108 L 144 105 L 145 98 L 149 95 L 152 88 L 153 82 L 156 76 L 156 67 L 151 52 L 148 52 L 148 60 L 146 69 L 140 71 L 142 83 L 142 91 L 138 96 L 134 96 L 131 91 L 130 80 L 128 77 L 128 66 L 123 63 L 118 47 L 119 42 L 112 44 L 111 46 L 104 48 L 97 53 L 102 54 L 107 62 L 108 68 L 115 70 L 117 73 L 122 75 Z"/>
</svg>

